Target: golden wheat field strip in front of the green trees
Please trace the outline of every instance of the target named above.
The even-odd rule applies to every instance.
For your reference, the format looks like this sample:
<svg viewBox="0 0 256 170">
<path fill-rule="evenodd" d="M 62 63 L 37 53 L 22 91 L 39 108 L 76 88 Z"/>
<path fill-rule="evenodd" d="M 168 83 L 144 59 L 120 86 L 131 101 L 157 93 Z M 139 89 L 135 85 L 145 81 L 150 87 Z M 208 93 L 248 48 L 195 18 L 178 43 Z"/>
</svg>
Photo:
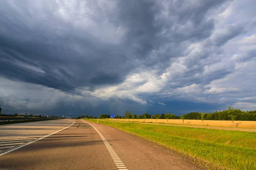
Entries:
<svg viewBox="0 0 256 170">
<path fill-rule="evenodd" d="M 169 123 L 183 124 L 181 119 L 114 119 L 115 121 L 128 122 L 152 122 L 152 123 Z M 216 126 L 216 127 L 233 127 L 231 120 L 186 120 L 184 125 L 199 125 L 199 126 Z M 256 121 L 234 121 L 234 127 L 240 128 L 256 128 Z"/>
</svg>

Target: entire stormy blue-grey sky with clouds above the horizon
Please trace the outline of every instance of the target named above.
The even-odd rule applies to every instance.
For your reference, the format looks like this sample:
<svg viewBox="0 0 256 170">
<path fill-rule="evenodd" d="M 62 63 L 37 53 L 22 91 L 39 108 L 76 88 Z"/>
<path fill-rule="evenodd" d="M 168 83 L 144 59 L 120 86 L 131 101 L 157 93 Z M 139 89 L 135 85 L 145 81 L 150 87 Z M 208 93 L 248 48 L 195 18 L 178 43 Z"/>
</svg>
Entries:
<svg viewBox="0 0 256 170">
<path fill-rule="evenodd" d="M 2 113 L 256 110 L 255 0 L 0 0 Z"/>
</svg>

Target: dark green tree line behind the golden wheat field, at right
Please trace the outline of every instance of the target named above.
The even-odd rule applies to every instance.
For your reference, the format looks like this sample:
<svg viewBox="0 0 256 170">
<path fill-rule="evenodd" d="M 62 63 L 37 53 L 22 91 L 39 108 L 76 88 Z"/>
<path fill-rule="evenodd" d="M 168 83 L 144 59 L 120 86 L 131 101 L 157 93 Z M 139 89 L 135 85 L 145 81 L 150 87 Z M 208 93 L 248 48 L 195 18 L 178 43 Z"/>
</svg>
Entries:
<svg viewBox="0 0 256 170">
<path fill-rule="evenodd" d="M 99 119 L 110 118 L 109 114 L 102 114 L 98 117 Z M 199 112 L 190 112 L 183 114 L 181 116 L 176 116 L 171 113 L 162 113 L 160 114 L 148 114 L 144 113 L 143 115 L 137 115 L 135 113 L 131 114 L 129 111 L 126 111 L 124 116 L 116 115 L 116 119 L 195 119 L 195 120 L 247 120 L 247 121 L 256 121 L 256 111 L 241 111 L 239 109 L 228 108 L 224 111 L 215 111 L 214 113 L 199 113 Z"/>
</svg>

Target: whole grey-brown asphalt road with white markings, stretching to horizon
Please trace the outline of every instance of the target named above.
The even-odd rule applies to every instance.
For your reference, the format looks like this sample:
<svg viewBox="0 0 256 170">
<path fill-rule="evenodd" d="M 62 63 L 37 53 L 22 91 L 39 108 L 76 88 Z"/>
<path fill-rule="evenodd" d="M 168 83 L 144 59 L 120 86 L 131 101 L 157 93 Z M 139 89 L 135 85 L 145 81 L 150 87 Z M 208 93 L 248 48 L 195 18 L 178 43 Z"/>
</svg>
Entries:
<svg viewBox="0 0 256 170">
<path fill-rule="evenodd" d="M 0 168 L 14 170 L 199 169 L 113 127 L 81 120 L 74 121 L 74 124 L 70 119 L 0 126 L 0 142 L 2 142 L 0 147 L 15 146 L 3 148 L 2 155 L 0 153 Z M 66 129 L 60 131 L 63 128 Z M 38 133 L 36 130 L 41 130 L 39 133 L 44 134 L 33 134 Z M 16 134 L 17 132 L 19 134 Z M 14 135 L 15 140 L 23 140 L 25 137 L 27 141 L 12 141 Z M 12 142 L 23 144 L 3 145 L 12 144 Z"/>
</svg>

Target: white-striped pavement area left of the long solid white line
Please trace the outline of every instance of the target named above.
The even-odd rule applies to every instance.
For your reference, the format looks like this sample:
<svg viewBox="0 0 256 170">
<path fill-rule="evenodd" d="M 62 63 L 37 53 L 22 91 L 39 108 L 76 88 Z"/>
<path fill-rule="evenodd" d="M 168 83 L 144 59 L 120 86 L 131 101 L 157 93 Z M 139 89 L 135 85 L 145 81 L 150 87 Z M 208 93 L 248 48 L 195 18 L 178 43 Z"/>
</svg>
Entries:
<svg viewBox="0 0 256 170">
<path fill-rule="evenodd" d="M 0 126 L 0 156 L 14 150 L 40 140 L 51 133 L 72 125 L 73 121 L 59 119 L 41 122 L 29 122 Z"/>
</svg>

